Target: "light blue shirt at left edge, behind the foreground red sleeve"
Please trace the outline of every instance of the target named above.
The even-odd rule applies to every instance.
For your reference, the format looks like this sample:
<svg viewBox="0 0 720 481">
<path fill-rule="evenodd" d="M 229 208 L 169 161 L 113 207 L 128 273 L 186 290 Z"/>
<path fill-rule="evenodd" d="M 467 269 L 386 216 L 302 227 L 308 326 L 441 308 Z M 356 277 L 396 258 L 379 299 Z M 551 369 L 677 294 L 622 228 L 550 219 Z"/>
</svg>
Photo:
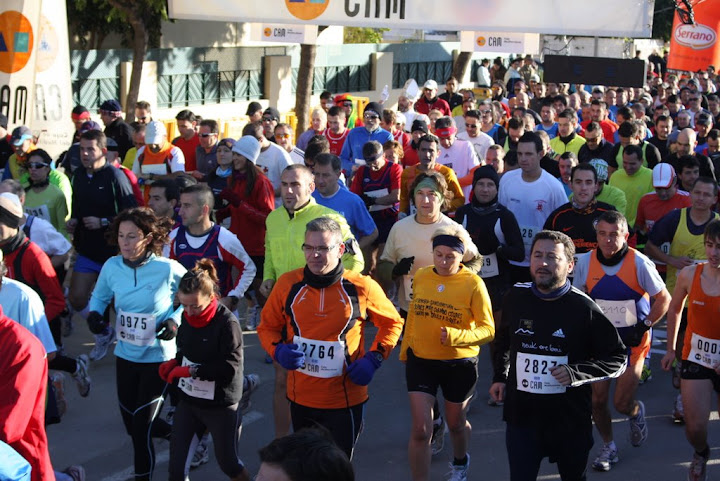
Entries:
<svg viewBox="0 0 720 481">
<path fill-rule="evenodd" d="M 45 352 L 57 351 L 45 317 L 45 306 L 37 292 L 30 286 L 9 277 L 2 278 L 0 306 L 7 317 L 32 332 L 45 347 Z"/>
</svg>

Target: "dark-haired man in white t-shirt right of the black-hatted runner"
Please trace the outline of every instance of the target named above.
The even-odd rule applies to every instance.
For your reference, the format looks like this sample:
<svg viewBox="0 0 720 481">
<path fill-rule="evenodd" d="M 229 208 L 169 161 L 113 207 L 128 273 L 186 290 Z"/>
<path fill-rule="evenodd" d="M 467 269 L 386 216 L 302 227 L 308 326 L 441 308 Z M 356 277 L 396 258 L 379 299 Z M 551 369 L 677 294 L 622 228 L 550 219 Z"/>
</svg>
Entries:
<svg viewBox="0 0 720 481">
<path fill-rule="evenodd" d="M 525 244 L 525 260 L 510 261 L 513 282 L 530 281 L 530 248 L 550 213 L 567 203 L 560 181 L 540 167 L 545 148 L 540 137 L 526 132 L 517 147 L 519 169 L 500 178 L 498 200 L 515 214 Z"/>
</svg>

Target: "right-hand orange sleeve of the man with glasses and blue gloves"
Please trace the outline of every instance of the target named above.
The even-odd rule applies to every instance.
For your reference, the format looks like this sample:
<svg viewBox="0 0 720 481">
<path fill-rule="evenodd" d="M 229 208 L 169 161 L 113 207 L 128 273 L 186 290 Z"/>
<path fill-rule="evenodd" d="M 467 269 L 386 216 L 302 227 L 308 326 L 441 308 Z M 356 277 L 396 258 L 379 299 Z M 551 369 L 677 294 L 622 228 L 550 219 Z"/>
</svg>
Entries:
<svg viewBox="0 0 720 481">
<path fill-rule="evenodd" d="M 367 317 L 378 328 L 370 350 L 380 352 L 387 359 L 400 338 L 403 320 L 380 285 L 370 277 L 363 279 Z"/>
</svg>

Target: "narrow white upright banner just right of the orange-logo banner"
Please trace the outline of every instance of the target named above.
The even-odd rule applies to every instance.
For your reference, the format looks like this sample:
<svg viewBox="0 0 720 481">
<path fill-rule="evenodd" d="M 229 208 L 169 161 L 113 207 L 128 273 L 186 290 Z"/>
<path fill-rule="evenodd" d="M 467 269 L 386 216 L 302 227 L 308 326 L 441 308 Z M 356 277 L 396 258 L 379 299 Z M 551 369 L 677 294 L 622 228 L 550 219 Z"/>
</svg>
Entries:
<svg viewBox="0 0 720 481">
<path fill-rule="evenodd" d="M 35 70 L 30 129 L 39 136 L 38 147 L 57 158 L 70 147 L 75 133 L 70 119 L 73 101 L 65 0 L 42 2 Z"/>
</svg>

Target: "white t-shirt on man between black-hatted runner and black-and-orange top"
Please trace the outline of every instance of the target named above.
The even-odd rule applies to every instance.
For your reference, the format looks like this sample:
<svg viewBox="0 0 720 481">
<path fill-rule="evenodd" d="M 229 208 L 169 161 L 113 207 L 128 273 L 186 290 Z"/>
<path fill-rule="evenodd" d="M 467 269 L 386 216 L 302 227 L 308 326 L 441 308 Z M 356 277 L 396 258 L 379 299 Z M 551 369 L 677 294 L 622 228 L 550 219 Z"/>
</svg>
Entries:
<svg viewBox="0 0 720 481">
<path fill-rule="evenodd" d="M 511 170 L 500 177 L 498 201 L 515 214 L 525 244 L 525 260 L 510 263 L 527 267 L 533 237 L 542 230 L 555 209 L 567 204 L 565 189 L 545 170 L 541 170 L 540 177 L 533 182 L 523 180 L 521 169 Z"/>
</svg>

